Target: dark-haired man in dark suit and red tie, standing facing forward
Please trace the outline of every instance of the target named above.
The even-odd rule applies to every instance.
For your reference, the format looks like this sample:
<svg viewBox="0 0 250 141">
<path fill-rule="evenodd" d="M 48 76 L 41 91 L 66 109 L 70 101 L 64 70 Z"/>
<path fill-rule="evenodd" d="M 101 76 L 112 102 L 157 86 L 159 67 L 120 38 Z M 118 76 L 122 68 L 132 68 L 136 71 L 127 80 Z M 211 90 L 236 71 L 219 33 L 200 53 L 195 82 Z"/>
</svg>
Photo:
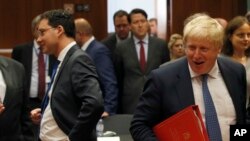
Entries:
<svg viewBox="0 0 250 141">
<path fill-rule="evenodd" d="M 134 113 L 149 72 L 170 59 L 166 42 L 148 35 L 149 25 L 144 10 L 133 9 L 129 23 L 133 36 L 117 45 L 114 58 L 121 113 L 124 114 Z M 141 49 L 144 49 L 142 54 Z M 144 68 L 140 65 L 141 55 L 144 55 Z"/>
</svg>

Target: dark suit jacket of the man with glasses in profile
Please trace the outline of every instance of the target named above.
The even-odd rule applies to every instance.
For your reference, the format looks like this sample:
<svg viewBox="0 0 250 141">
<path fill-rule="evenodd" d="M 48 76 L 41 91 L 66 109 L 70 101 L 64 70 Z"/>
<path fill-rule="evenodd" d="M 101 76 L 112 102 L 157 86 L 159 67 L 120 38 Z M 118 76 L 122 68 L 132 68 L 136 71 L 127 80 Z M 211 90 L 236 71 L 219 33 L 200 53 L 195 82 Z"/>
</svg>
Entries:
<svg viewBox="0 0 250 141">
<path fill-rule="evenodd" d="M 103 113 L 102 93 L 92 60 L 78 46 L 68 51 L 61 64 L 50 106 L 56 123 L 70 140 L 96 140 L 96 123 Z"/>
</svg>

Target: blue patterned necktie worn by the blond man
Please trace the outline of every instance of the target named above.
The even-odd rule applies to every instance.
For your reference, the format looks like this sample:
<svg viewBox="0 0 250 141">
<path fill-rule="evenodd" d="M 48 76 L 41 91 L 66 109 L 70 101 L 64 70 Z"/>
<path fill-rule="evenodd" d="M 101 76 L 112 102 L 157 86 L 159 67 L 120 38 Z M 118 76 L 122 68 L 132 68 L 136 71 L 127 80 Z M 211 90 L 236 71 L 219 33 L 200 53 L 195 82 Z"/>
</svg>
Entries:
<svg viewBox="0 0 250 141">
<path fill-rule="evenodd" d="M 222 141 L 215 106 L 207 86 L 208 74 L 202 75 L 202 92 L 205 105 L 206 128 L 210 141 Z"/>
</svg>

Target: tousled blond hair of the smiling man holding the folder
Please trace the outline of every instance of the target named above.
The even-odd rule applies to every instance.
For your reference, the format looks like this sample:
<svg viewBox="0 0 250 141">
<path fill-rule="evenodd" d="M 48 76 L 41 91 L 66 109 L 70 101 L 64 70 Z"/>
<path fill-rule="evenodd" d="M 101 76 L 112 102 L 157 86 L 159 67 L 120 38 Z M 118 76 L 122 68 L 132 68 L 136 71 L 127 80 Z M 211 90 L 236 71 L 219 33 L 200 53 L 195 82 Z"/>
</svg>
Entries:
<svg viewBox="0 0 250 141">
<path fill-rule="evenodd" d="M 214 43 L 214 46 L 223 46 L 223 27 L 208 15 L 198 16 L 188 22 L 183 31 L 183 41 L 187 38 L 207 40 Z"/>
</svg>

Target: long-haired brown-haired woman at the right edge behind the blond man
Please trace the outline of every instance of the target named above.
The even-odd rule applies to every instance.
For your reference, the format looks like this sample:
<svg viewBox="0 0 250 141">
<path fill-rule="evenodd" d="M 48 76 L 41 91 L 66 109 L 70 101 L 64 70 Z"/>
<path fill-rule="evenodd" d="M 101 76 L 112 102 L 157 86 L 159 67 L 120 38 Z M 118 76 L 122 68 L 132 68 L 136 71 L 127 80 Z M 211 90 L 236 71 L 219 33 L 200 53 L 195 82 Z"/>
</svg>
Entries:
<svg viewBox="0 0 250 141">
<path fill-rule="evenodd" d="M 233 18 L 227 24 L 222 54 L 241 63 L 247 72 L 247 105 L 250 95 L 250 23 L 243 16 Z"/>
</svg>

